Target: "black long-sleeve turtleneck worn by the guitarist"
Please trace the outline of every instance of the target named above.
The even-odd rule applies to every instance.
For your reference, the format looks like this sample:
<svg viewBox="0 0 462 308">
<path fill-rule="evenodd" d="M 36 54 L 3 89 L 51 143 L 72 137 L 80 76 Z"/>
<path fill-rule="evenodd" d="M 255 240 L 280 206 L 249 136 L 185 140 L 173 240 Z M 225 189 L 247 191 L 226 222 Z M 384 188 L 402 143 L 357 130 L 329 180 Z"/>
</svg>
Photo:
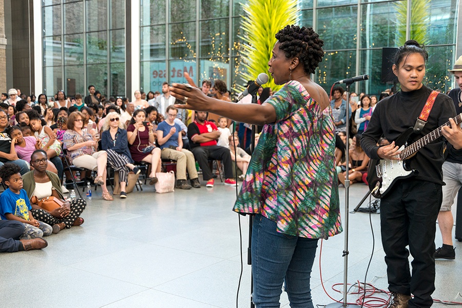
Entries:
<svg viewBox="0 0 462 308">
<path fill-rule="evenodd" d="M 431 91 L 426 86 L 422 86 L 415 91 L 399 91 L 380 101 L 372 113 L 368 129 L 364 131 L 361 137 L 361 147 L 364 152 L 372 159 L 380 159 L 377 155 L 378 139 L 383 134 L 384 138 L 392 142 L 406 129 L 414 127 Z M 446 94 L 439 93 L 427 124 L 418 133 L 411 134 L 408 145 L 445 124 L 449 118 L 454 118 L 455 114 L 452 99 Z M 441 165 L 444 163 L 443 148 L 444 141 L 442 138 L 438 138 L 408 159 L 408 167 L 419 170 L 417 179 L 444 184 L 441 171 Z"/>
</svg>

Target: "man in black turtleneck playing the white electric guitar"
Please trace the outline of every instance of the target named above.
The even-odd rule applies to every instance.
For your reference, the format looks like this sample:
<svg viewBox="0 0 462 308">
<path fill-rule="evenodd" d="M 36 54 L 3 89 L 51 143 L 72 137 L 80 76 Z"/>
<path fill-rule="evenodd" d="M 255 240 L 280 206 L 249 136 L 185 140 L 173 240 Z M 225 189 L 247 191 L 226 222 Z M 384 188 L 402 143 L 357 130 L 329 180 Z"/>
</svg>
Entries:
<svg viewBox="0 0 462 308">
<path fill-rule="evenodd" d="M 398 160 L 396 156 L 400 151 L 394 140 L 409 127 L 414 127 L 432 92 L 422 85 L 427 59 L 424 46 L 416 41 L 408 41 L 398 49 L 393 73 L 401 90 L 376 105 L 361 138 L 361 146 L 371 159 Z M 424 128 L 412 134 L 408 143 L 424 137 L 454 116 L 452 100 L 445 94 L 438 94 Z M 393 142 L 378 147 L 377 141 L 382 136 Z M 417 169 L 418 175 L 397 180 L 380 201 L 382 245 L 386 253 L 389 290 L 393 294 L 391 307 L 430 307 L 433 303 L 436 217 L 444 185 L 443 146 L 444 142 L 438 139 L 420 149 L 408 160 L 408 166 Z M 412 277 L 409 252 L 414 258 Z"/>
</svg>

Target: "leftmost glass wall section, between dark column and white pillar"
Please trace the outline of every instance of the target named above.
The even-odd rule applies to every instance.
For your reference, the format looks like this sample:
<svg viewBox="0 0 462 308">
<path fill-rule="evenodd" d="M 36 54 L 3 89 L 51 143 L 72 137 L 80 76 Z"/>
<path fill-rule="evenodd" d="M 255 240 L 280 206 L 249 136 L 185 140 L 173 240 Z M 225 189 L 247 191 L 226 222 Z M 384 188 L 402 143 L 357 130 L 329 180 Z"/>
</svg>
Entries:
<svg viewBox="0 0 462 308">
<path fill-rule="evenodd" d="M 125 0 L 43 0 L 44 93 L 125 95 Z"/>
</svg>

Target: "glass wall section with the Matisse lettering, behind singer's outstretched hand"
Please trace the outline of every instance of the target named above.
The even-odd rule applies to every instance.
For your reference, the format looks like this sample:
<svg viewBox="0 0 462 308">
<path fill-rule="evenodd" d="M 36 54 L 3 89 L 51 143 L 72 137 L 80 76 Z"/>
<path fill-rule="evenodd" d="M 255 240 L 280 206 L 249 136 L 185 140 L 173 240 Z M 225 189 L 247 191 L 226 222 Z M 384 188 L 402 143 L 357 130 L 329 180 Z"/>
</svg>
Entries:
<svg viewBox="0 0 462 308">
<path fill-rule="evenodd" d="M 230 5 L 229 0 L 200 0 L 199 6 L 141 0 L 141 89 L 161 91 L 164 82 L 186 82 L 185 71 L 198 83 L 221 79 L 232 88 L 236 74 L 230 64 L 229 25 L 235 18 L 229 16 Z"/>
</svg>

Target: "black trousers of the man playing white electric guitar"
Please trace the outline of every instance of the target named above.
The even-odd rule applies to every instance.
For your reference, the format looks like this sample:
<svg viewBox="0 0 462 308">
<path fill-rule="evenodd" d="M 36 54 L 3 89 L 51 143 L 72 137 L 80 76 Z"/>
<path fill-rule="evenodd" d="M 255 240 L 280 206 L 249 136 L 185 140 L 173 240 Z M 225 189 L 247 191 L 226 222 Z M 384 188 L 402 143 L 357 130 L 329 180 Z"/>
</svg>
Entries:
<svg viewBox="0 0 462 308">
<path fill-rule="evenodd" d="M 380 201 L 380 228 L 389 290 L 414 295 L 410 307 L 430 307 L 435 291 L 436 218 L 441 185 L 416 179 L 396 182 Z M 409 245 L 409 251 L 406 246 Z M 409 269 L 409 252 L 412 276 Z"/>
</svg>

